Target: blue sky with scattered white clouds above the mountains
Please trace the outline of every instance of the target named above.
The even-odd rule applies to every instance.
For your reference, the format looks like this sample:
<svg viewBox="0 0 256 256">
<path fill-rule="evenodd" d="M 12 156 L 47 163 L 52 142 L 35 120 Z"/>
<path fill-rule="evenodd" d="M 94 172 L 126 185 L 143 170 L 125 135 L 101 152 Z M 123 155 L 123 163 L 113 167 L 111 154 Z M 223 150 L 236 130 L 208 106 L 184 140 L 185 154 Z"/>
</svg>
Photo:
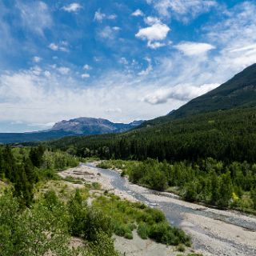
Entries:
<svg viewBox="0 0 256 256">
<path fill-rule="evenodd" d="M 256 62 L 256 2 L 0 0 L 0 132 L 151 119 Z"/>
</svg>

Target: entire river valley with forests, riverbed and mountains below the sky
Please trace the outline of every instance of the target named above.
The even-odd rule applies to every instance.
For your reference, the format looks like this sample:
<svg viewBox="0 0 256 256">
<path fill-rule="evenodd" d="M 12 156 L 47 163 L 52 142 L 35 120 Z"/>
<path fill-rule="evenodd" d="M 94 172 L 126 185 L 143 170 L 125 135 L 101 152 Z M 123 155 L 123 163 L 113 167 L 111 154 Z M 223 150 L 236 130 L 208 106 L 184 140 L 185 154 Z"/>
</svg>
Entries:
<svg viewBox="0 0 256 256">
<path fill-rule="evenodd" d="M 255 75 L 146 122 L 0 134 L 0 255 L 256 254 Z"/>
</svg>

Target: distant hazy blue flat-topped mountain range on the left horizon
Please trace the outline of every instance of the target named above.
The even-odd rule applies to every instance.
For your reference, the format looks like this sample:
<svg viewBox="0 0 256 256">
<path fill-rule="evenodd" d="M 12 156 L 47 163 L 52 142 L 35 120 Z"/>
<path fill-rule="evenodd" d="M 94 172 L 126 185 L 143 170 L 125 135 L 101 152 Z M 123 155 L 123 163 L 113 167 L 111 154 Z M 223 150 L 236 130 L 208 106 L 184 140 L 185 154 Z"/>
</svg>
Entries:
<svg viewBox="0 0 256 256">
<path fill-rule="evenodd" d="M 0 133 L 0 143 L 39 142 L 74 135 L 114 134 L 142 124 L 142 120 L 114 123 L 102 118 L 74 118 L 57 122 L 50 130 L 28 133 Z"/>
</svg>

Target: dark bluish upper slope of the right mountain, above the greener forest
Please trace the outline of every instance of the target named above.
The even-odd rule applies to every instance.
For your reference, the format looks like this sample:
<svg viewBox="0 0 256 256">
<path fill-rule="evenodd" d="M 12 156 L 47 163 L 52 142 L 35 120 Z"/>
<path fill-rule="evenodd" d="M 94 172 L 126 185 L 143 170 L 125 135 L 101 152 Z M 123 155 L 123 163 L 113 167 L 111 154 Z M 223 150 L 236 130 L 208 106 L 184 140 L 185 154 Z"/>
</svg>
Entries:
<svg viewBox="0 0 256 256">
<path fill-rule="evenodd" d="M 146 121 L 142 126 L 156 125 L 194 114 L 256 106 L 256 64 L 248 66 L 218 88 L 192 99 L 164 117 Z"/>
</svg>

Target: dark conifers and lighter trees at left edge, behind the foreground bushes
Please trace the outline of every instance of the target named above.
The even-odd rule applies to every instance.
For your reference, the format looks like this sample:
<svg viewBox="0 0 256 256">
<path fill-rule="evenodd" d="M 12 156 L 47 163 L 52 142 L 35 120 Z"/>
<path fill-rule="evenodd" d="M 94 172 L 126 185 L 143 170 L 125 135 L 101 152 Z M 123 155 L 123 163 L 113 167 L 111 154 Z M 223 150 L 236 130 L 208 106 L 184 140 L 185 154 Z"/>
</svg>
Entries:
<svg viewBox="0 0 256 256">
<path fill-rule="evenodd" d="M 34 185 L 43 178 L 53 178 L 54 170 L 77 166 L 78 158 L 65 152 L 50 152 L 43 146 L 32 148 L 0 147 L 0 180 L 10 182 L 14 196 L 29 206 Z"/>
</svg>

